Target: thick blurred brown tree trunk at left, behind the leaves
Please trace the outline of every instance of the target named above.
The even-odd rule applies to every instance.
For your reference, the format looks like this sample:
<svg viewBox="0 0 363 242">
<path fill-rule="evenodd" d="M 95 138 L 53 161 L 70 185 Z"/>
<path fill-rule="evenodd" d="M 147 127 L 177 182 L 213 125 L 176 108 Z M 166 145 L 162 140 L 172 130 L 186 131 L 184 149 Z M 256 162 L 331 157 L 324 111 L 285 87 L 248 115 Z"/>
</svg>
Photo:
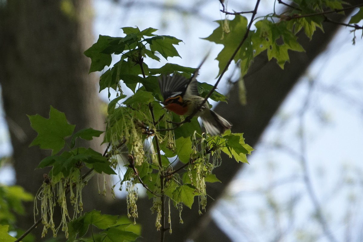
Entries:
<svg viewBox="0 0 363 242">
<path fill-rule="evenodd" d="M 43 173 L 48 171 L 34 168 L 50 152 L 28 147 L 36 132 L 26 114 L 48 118 L 52 105 L 65 112 L 68 121 L 76 124 L 76 130 L 104 130 L 97 77 L 88 74 L 90 60 L 83 55 L 94 41 L 92 5 L 90 0 L 9 0 L 2 4 L 0 83 L 16 184 L 35 195 Z M 99 141 L 91 144 L 98 151 Z M 83 192 L 87 208 L 94 207 L 93 194 L 97 190 L 93 190 L 94 193 Z M 34 222 L 32 203 L 28 203 L 26 212 L 25 218 L 18 220 L 25 230 Z"/>
</svg>

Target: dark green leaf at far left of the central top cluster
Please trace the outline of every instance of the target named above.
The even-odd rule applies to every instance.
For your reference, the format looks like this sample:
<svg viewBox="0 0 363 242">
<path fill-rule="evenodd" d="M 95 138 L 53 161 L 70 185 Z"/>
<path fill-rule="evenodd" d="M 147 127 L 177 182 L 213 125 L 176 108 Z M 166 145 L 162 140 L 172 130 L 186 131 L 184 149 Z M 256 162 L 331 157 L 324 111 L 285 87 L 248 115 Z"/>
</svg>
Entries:
<svg viewBox="0 0 363 242">
<path fill-rule="evenodd" d="M 91 58 L 89 73 L 101 71 L 105 66 L 111 65 L 111 54 L 102 53 L 109 46 L 111 40 L 113 37 L 99 35 L 97 42 L 84 52 L 85 56 Z"/>
</svg>

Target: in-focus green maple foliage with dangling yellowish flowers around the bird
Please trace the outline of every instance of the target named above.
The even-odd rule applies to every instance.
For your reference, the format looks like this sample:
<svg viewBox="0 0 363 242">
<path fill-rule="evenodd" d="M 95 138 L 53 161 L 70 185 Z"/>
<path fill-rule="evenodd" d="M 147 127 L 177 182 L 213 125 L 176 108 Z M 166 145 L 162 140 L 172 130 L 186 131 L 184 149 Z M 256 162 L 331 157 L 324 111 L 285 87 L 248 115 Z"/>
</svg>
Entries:
<svg viewBox="0 0 363 242">
<path fill-rule="evenodd" d="M 249 23 L 246 17 L 239 14 L 235 14 L 233 20 L 217 21 L 220 26 L 205 39 L 224 46 L 216 58 L 220 78 L 232 60 L 240 64 L 242 78 L 253 59 L 265 50 L 268 60 L 276 59 L 283 69 L 285 63 L 290 61 L 289 50 L 304 51 L 296 34 L 303 29 L 312 38 L 317 27 L 322 29 L 322 21 L 325 20 L 323 9 L 341 9 L 343 3 L 338 0 L 294 2 L 297 7 L 291 7 L 290 11 L 282 15 L 272 13 L 254 22 L 255 30 L 250 28 L 258 4 Z M 361 12 L 360 9 L 351 21 L 360 20 Z M 153 200 L 151 212 L 156 213 L 156 229 L 164 233 L 166 201 L 169 211 L 171 204 L 179 210 L 181 223 L 183 205 L 191 208 L 195 197 L 199 213 L 205 211 L 206 182 L 220 182 L 213 169 L 221 164 L 222 152 L 237 162 L 248 163 L 246 155 L 253 149 L 245 143 L 242 133 L 226 131 L 222 135 L 211 136 L 201 131 L 196 117 L 188 117 L 186 120 L 190 122 L 186 122 L 185 117 L 168 112 L 160 105 L 163 100 L 158 76 L 179 73 L 189 78 L 196 69 L 172 63 L 152 69 L 148 63 L 160 61 L 161 57 L 167 60 L 168 57 L 179 56 L 175 46 L 181 40 L 172 36 L 158 36 L 154 28 L 140 30 L 138 27 L 125 27 L 122 30 L 124 37 L 100 35 L 98 41 L 84 52 L 91 59 L 89 72 L 102 71 L 99 90 L 109 90 L 105 131 L 87 128 L 74 133 L 75 125 L 69 124 L 65 114 L 52 106 L 49 119 L 40 115 L 29 116 L 31 126 L 38 133 L 30 145 L 52 150 L 52 155 L 43 159 L 37 167 L 52 167 L 44 176 L 44 183 L 36 197 L 36 202 L 40 202 L 40 221 L 44 225 L 42 235 L 51 229 L 55 237 L 62 228 L 68 241 L 77 241 L 78 237 L 87 236 L 91 226 L 102 230 L 93 236 L 96 241 L 95 238 L 100 241 L 134 241 L 138 238 L 140 231 L 123 218 L 101 214 L 96 210 L 79 217 L 83 210 L 82 188 L 95 173 L 112 175 L 116 174 L 115 171 L 120 173 L 120 166 L 125 166 L 127 171 L 119 182 L 126 184 L 125 209 L 128 217 L 136 223 L 136 184 L 139 183 Z M 113 60 L 115 63 L 111 66 Z M 134 93 L 131 97 L 124 95 L 122 82 Z M 227 102 L 223 94 L 215 91 L 218 82 L 215 86 L 198 82 L 201 97 Z M 110 89 L 117 93 L 113 99 Z M 103 143 L 107 144 L 104 154 L 79 147 L 78 139 L 91 140 L 102 134 Z M 128 162 L 120 164 L 119 157 L 126 155 Z M 181 162 L 179 168 L 172 161 L 176 157 Z M 89 170 L 82 176 L 83 167 Z M 68 212 L 68 193 L 73 215 Z M 59 225 L 53 221 L 56 205 L 62 211 Z M 171 232 L 171 224 L 169 227 Z M 7 227 L 1 227 L 1 231 L 5 230 Z"/>
</svg>

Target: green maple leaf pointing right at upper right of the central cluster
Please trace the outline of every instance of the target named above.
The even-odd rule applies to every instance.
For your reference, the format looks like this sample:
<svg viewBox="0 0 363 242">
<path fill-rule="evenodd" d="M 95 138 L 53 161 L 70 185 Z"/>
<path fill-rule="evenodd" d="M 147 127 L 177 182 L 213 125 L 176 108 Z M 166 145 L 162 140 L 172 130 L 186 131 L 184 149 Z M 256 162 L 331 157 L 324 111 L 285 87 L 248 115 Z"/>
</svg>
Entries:
<svg viewBox="0 0 363 242">
<path fill-rule="evenodd" d="M 178 40 L 175 37 L 160 35 L 145 39 L 145 41 L 150 44 L 152 52 L 159 52 L 165 59 L 168 59 L 168 57 L 179 56 L 173 45 L 178 45 L 181 40 Z"/>
</svg>

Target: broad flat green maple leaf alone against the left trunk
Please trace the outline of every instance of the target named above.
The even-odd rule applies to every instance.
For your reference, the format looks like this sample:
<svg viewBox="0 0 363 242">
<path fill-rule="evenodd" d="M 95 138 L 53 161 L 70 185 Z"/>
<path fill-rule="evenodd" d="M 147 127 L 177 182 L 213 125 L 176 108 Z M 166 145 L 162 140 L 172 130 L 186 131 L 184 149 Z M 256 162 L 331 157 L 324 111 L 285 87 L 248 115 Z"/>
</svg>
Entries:
<svg viewBox="0 0 363 242">
<path fill-rule="evenodd" d="M 65 145 L 64 138 L 72 135 L 75 125 L 67 122 L 64 112 L 50 106 L 49 119 L 38 114 L 28 115 L 30 125 L 38 136 L 29 145 L 39 145 L 41 149 L 52 149 L 58 153 Z"/>
</svg>

